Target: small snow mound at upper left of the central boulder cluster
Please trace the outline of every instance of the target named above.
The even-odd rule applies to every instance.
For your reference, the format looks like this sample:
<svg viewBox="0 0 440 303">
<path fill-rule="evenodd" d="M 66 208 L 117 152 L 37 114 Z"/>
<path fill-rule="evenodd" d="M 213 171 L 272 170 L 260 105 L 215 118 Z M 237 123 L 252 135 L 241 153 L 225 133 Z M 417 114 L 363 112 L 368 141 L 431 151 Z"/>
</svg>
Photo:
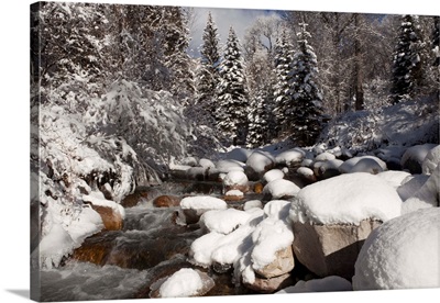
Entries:
<svg viewBox="0 0 440 303">
<path fill-rule="evenodd" d="M 208 211 L 201 215 L 200 223 L 209 232 L 230 234 L 240 225 L 245 224 L 250 216 L 249 213 L 235 209 Z"/>
</svg>

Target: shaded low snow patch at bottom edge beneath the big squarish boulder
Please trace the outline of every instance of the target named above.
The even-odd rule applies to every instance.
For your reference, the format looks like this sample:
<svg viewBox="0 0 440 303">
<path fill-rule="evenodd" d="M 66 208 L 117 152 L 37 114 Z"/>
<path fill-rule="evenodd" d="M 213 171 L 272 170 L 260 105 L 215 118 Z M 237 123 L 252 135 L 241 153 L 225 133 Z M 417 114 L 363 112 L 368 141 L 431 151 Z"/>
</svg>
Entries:
<svg viewBox="0 0 440 303">
<path fill-rule="evenodd" d="M 301 292 L 333 292 L 333 291 L 351 291 L 350 281 L 338 277 L 329 276 L 322 279 L 314 279 L 309 281 L 300 280 L 294 287 L 285 288 L 277 291 L 276 294 L 284 293 L 301 293 Z"/>
</svg>

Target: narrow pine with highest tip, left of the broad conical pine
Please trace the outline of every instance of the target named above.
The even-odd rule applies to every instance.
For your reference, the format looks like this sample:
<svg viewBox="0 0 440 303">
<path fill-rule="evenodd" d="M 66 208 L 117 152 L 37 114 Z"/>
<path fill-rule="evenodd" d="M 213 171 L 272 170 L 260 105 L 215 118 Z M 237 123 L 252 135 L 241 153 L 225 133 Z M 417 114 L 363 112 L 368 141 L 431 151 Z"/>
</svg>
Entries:
<svg viewBox="0 0 440 303">
<path fill-rule="evenodd" d="M 216 87 L 219 82 L 220 55 L 218 49 L 219 34 L 217 33 L 217 26 L 210 12 L 202 40 L 204 44 L 200 49 L 201 66 L 197 83 L 197 103 L 215 119 L 216 104 L 213 103 L 213 98 L 216 96 Z"/>
</svg>

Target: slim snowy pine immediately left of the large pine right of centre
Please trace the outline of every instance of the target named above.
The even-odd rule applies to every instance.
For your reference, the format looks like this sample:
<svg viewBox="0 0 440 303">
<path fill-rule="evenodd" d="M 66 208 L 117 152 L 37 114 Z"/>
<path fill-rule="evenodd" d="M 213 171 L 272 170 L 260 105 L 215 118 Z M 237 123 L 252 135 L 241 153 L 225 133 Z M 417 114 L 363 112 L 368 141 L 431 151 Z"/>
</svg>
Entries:
<svg viewBox="0 0 440 303">
<path fill-rule="evenodd" d="M 290 66 L 293 60 L 293 45 L 288 43 L 286 30 L 283 30 L 275 46 L 275 70 L 277 82 L 274 88 L 274 115 L 276 119 L 275 132 L 283 132 L 287 126 L 286 120 L 292 108 L 289 81 L 292 78 Z M 286 131 L 286 130 L 284 130 Z"/>
</svg>

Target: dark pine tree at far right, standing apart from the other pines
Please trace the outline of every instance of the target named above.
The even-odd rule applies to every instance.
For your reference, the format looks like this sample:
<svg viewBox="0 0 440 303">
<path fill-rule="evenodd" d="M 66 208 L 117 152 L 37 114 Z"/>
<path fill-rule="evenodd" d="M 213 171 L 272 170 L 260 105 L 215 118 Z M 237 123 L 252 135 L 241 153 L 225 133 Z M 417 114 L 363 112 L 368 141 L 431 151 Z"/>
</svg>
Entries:
<svg viewBox="0 0 440 303">
<path fill-rule="evenodd" d="M 417 15 L 403 16 L 393 54 L 393 103 L 414 97 L 421 85 L 424 43 L 419 27 Z"/>
</svg>

